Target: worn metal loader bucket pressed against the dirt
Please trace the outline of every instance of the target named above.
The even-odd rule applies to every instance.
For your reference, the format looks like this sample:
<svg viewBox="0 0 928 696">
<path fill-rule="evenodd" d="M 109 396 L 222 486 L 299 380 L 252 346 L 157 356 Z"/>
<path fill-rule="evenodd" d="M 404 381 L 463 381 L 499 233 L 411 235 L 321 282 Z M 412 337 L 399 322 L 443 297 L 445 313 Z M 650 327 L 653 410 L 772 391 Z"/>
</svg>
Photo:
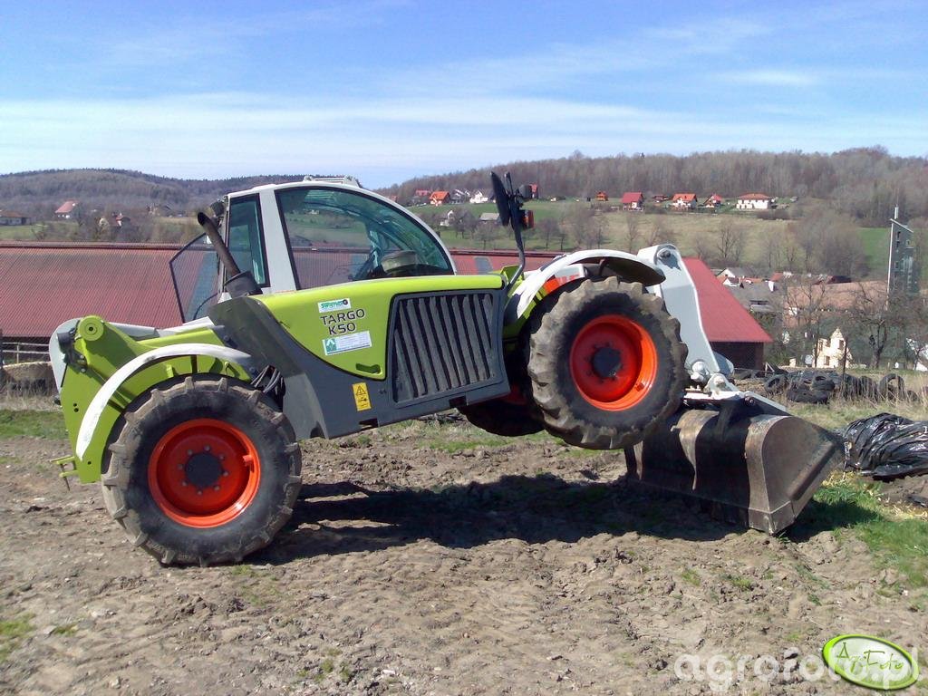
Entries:
<svg viewBox="0 0 928 696">
<path fill-rule="evenodd" d="M 841 445 L 806 420 L 765 413 L 756 403 L 682 408 L 625 450 L 628 478 L 704 501 L 714 517 L 778 534 L 841 462 Z"/>
</svg>

